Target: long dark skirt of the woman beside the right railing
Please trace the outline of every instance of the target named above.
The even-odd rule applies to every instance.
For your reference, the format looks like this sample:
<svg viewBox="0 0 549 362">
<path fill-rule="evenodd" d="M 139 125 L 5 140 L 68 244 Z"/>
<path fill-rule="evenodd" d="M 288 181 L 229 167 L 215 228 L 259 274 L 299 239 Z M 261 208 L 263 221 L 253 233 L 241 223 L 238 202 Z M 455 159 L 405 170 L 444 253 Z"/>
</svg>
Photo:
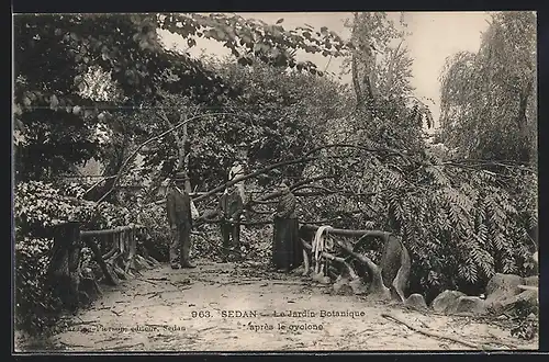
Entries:
<svg viewBox="0 0 549 362">
<path fill-rule="evenodd" d="M 296 218 L 274 218 L 272 263 L 290 271 L 303 262 L 303 246 L 299 238 Z"/>
</svg>

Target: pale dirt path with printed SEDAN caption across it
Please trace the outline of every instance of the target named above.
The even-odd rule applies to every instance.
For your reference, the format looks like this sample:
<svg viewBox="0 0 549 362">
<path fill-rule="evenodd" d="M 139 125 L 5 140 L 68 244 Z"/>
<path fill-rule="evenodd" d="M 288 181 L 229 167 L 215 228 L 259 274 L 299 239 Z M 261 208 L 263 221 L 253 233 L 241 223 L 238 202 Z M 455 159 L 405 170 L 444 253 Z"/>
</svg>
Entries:
<svg viewBox="0 0 549 362">
<path fill-rule="evenodd" d="M 289 310 L 302 315 L 278 316 Z M 322 310 L 355 317 L 325 316 Z M 65 351 L 116 352 L 469 349 L 413 331 L 382 313 L 490 349 L 538 348 L 537 340 L 522 341 L 471 318 L 425 315 L 335 295 L 310 279 L 210 261 L 198 262 L 194 270 L 165 265 L 105 289 L 100 301 L 66 319 L 51 343 Z"/>
</svg>

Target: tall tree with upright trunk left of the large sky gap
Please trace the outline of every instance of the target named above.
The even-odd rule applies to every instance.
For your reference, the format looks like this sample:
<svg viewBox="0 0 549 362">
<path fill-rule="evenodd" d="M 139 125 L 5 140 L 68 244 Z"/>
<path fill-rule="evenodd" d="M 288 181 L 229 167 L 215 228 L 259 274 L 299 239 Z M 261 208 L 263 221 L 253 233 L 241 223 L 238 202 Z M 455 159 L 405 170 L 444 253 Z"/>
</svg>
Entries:
<svg viewBox="0 0 549 362">
<path fill-rule="evenodd" d="M 403 44 L 402 18 L 397 25 L 384 12 L 355 13 L 346 26 L 354 48 L 344 67 L 351 72 L 356 110 L 343 121 L 344 139 L 422 150 L 423 126 L 433 126 L 433 118 L 413 93 L 413 59 Z"/>
</svg>

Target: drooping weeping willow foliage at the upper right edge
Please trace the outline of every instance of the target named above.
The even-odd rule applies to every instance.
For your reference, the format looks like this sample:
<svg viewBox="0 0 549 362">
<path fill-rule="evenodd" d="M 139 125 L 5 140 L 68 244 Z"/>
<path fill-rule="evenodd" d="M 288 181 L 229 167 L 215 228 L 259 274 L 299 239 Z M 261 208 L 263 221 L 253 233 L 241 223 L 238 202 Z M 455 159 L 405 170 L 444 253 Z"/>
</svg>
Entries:
<svg viewBox="0 0 549 362">
<path fill-rule="evenodd" d="M 493 14 L 479 52 L 447 60 L 445 143 L 464 157 L 536 161 L 536 15 Z"/>
</svg>

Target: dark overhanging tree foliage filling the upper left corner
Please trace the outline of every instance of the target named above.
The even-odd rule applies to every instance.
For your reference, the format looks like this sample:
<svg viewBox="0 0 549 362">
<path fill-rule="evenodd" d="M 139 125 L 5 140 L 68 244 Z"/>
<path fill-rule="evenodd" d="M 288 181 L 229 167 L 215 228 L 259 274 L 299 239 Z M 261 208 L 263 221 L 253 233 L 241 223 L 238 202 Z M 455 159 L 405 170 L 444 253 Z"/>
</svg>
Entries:
<svg viewBox="0 0 549 362">
<path fill-rule="evenodd" d="M 18 176 L 25 180 L 68 171 L 97 155 L 97 125 L 111 126 L 112 110 L 155 105 L 166 91 L 210 106 L 238 94 L 200 60 L 164 48 L 159 30 L 183 35 L 190 45 L 193 36 L 216 39 L 242 64 L 255 57 L 311 72 L 315 65 L 296 61 L 292 50 L 339 56 L 346 48 L 326 29 L 285 31 L 280 23 L 226 14 L 18 15 L 14 27 L 14 121 L 24 139 L 16 149 Z M 110 80 L 90 84 L 90 72 Z M 46 165 L 33 163 L 43 155 L 49 156 Z"/>
</svg>

